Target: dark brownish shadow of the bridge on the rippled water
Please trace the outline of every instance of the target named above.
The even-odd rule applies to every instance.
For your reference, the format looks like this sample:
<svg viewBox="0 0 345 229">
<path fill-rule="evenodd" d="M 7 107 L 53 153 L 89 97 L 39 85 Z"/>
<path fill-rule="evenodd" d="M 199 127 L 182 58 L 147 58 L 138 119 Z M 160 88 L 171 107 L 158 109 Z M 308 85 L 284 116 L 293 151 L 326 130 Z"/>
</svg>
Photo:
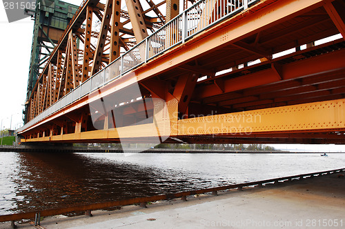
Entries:
<svg viewBox="0 0 345 229">
<path fill-rule="evenodd" d="M 121 157 L 121 155 L 119 155 Z M 130 199 L 170 190 L 170 175 L 87 154 L 22 152 L 13 171 L 13 212 Z M 181 181 L 183 185 L 184 181 Z M 178 187 L 177 187 L 178 190 Z"/>
</svg>

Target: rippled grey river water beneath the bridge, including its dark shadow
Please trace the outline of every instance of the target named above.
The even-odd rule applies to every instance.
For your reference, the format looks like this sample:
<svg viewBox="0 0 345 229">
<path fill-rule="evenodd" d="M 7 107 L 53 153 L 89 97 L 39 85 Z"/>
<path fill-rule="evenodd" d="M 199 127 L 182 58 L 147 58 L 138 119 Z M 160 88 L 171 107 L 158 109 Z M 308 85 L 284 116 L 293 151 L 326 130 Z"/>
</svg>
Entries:
<svg viewBox="0 0 345 229">
<path fill-rule="evenodd" d="M 344 153 L 0 155 L 0 215 L 345 168 Z"/>
</svg>

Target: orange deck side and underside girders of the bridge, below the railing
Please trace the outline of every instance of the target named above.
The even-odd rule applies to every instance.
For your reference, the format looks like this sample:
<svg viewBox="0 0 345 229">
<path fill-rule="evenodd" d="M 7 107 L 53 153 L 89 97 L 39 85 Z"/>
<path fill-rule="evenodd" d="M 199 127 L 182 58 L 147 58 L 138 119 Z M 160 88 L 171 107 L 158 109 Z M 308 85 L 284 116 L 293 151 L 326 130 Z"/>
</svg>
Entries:
<svg viewBox="0 0 345 229">
<path fill-rule="evenodd" d="M 345 143 L 345 41 L 315 45 L 342 32 L 325 2 L 263 1 L 23 131 L 23 141 L 116 142 L 121 128 L 121 141 L 148 141 L 153 123 L 133 123 L 155 108 L 124 92 L 137 79 L 143 97 L 167 102 L 168 142 Z M 345 12 L 344 1 L 331 4 Z M 130 99 L 110 110 L 124 120 L 91 120 L 97 99 L 119 94 Z"/>
</svg>

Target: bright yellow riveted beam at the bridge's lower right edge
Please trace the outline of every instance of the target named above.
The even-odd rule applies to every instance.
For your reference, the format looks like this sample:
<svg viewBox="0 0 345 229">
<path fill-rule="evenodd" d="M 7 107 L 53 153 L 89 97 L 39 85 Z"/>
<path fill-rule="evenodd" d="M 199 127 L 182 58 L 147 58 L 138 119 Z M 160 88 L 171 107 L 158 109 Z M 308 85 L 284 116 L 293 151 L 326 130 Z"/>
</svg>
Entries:
<svg viewBox="0 0 345 229">
<path fill-rule="evenodd" d="M 344 130 L 345 99 L 183 119 L 178 135 L 251 135 Z"/>
</svg>

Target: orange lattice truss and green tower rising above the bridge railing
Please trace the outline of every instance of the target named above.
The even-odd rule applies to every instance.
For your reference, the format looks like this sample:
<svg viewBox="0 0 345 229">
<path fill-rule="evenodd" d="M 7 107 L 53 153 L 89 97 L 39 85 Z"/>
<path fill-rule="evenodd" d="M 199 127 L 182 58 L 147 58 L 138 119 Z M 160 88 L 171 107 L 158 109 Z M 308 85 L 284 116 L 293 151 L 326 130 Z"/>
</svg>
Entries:
<svg viewBox="0 0 345 229">
<path fill-rule="evenodd" d="M 79 8 L 58 0 L 38 1 L 41 8 L 27 10 L 35 24 L 25 122 L 165 23 L 161 10 L 166 1 L 147 0 L 145 10 L 139 1 L 127 1 L 125 7 L 121 0 L 83 1 Z"/>
</svg>

